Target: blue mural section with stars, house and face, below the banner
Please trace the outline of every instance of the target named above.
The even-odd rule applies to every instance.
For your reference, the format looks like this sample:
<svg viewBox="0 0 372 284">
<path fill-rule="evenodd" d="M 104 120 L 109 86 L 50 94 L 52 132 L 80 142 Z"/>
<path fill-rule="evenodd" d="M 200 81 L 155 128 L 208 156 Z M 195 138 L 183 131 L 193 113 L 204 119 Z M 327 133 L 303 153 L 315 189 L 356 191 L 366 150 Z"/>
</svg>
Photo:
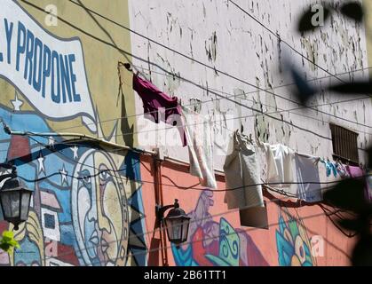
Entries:
<svg viewBox="0 0 372 284">
<path fill-rule="evenodd" d="M 3 106 L 0 117 L 13 130 L 52 132 L 34 112 Z M 59 142 L 0 130 L 1 161 L 14 162 L 34 190 L 28 221 L 15 233 L 20 249 L 1 264 L 145 265 L 139 155 Z"/>
</svg>

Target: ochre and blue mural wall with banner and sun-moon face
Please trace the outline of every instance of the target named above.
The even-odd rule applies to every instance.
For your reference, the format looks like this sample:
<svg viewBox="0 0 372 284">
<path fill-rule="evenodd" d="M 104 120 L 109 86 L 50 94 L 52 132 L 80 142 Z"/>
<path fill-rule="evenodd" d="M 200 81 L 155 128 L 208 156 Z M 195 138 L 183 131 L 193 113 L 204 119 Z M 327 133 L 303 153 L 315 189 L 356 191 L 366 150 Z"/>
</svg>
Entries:
<svg viewBox="0 0 372 284">
<path fill-rule="evenodd" d="M 0 12 L 0 117 L 12 130 L 89 134 L 136 144 L 133 93 L 118 69 L 131 38 L 127 2 L 6 0 Z M 57 14 L 58 19 L 51 16 Z M 126 53 L 127 52 L 127 53 Z M 126 95 L 124 95 L 126 94 Z M 126 135 L 123 135 L 126 133 Z M 0 161 L 34 190 L 20 248 L 2 265 L 145 265 L 139 154 L 0 130 Z M 1 230 L 12 225 L 1 222 Z"/>
</svg>

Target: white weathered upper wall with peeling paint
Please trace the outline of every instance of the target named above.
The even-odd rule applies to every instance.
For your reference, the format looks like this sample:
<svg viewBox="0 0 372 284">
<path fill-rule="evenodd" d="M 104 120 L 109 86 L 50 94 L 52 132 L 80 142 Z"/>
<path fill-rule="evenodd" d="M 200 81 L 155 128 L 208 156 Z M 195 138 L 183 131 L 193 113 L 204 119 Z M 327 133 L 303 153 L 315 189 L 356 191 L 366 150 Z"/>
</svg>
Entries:
<svg viewBox="0 0 372 284">
<path fill-rule="evenodd" d="M 318 65 L 328 69 L 332 74 L 342 74 L 368 67 L 364 28 L 355 25 L 351 20 L 334 15 L 323 28 L 316 30 L 313 34 L 305 37 L 297 34 L 297 17 L 313 1 L 234 1 L 267 28 L 278 33 L 282 40 L 309 59 L 315 60 Z M 335 1 L 335 3 L 339 2 Z M 326 77 L 322 80 L 315 80 L 313 83 L 325 86 L 328 83 L 337 82 L 336 79 L 329 77 L 327 73 L 289 50 L 284 43 L 280 44 L 278 38 L 227 0 L 131 0 L 130 18 L 131 28 L 136 32 L 242 81 L 263 89 L 273 88 L 276 94 L 285 98 L 295 99 L 289 94 L 287 87 L 281 87 L 292 83 L 285 72 L 288 71 L 288 65 L 283 65 L 284 62 L 296 64 L 308 75 L 308 80 Z M 360 148 L 366 148 L 366 145 L 372 141 L 372 136 L 365 133 L 372 133 L 371 129 L 340 121 L 335 117 L 313 110 L 296 110 L 291 113 L 282 112 L 272 115 L 279 119 L 282 115 L 285 121 L 293 122 L 305 130 L 311 130 L 326 138 L 320 138 L 313 133 L 299 130 L 288 123 L 273 120 L 267 116 L 254 117 L 252 114 L 257 114 L 256 112 L 244 106 L 238 106 L 232 100 L 257 109 L 262 107 L 264 112 L 296 108 L 298 105 L 264 91 L 257 91 L 246 83 L 203 67 L 141 36 L 132 34 L 131 41 L 133 54 L 141 58 L 133 59 L 133 63 L 143 67 L 142 71 L 148 75 L 148 78 L 151 77 L 153 83 L 162 91 L 178 96 L 185 105 L 194 103 L 193 98 L 202 101 L 213 99 L 212 102 L 202 104 L 203 114 L 222 114 L 225 117 L 250 115 L 250 117 L 226 121 L 229 130 L 240 128 L 242 124 L 245 134 L 254 133 L 256 128 L 261 138 L 269 143 L 281 142 L 299 152 L 329 158 L 332 154 L 332 143 L 326 139 L 331 138 L 328 122 L 336 122 L 358 131 Z M 147 60 L 153 64 L 149 64 Z M 148 69 L 151 69 L 151 73 Z M 213 89 L 225 92 L 219 93 L 222 97 L 240 95 L 244 92 L 248 94 L 241 99 L 233 97 L 220 99 L 221 97 L 216 94 L 203 91 L 193 83 L 158 74 L 164 74 L 163 70 L 208 87 L 210 91 Z M 354 72 L 350 75 L 339 75 L 346 81 L 354 76 L 368 77 L 368 70 Z M 338 95 L 328 96 L 328 93 L 322 93 L 313 100 L 313 105 L 350 98 Z M 143 113 L 142 103 L 139 97 L 136 100 L 136 113 L 141 114 Z M 345 119 L 372 125 L 371 99 L 319 106 L 319 109 Z M 218 116 L 215 118 L 215 120 L 220 119 Z M 138 123 L 142 123 L 140 119 Z M 139 146 L 145 145 L 146 137 L 139 135 Z M 187 160 L 186 148 L 167 147 L 166 150 L 170 156 Z M 365 153 L 360 151 L 360 162 L 365 161 L 364 155 Z M 223 156 L 215 157 L 217 169 L 222 169 L 224 160 Z"/>
</svg>

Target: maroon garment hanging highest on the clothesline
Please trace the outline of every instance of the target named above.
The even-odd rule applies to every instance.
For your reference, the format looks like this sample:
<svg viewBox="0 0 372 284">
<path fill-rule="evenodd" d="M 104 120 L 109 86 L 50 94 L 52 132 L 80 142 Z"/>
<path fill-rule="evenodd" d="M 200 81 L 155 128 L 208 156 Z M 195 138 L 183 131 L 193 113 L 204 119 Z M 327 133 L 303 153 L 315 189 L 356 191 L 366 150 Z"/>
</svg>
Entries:
<svg viewBox="0 0 372 284">
<path fill-rule="evenodd" d="M 178 98 L 171 98 L 159 91 L 153 83 L 139 78 L 138 75 L 133 75 L 133 90 L 137 91 L 143 101 L 144 113 L 151 115 L 155 123 L 162 121 L 173 126 L 175 126 L 175 123 L 177 124 L 183 146 L 187 146 L 186 133 L 182 122 L 182 109 L 178 104 Z M 162 111 L 164 114 L 162 114 Z"/>
</svg>

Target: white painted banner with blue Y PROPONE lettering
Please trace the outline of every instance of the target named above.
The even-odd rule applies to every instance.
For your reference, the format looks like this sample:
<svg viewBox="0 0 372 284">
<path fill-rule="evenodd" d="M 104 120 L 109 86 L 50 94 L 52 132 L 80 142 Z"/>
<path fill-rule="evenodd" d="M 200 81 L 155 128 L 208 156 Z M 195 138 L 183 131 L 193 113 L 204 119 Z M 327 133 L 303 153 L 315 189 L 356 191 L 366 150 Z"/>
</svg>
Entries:
<svg viewBox="0 0 372 284">
<path fill-rule="evenodd" d="M 12 0 L 1 5 L 0 75 L 49 119 L 81 115 L 96 132 L 79 39 L 52 36 Z"/>
</svg>

